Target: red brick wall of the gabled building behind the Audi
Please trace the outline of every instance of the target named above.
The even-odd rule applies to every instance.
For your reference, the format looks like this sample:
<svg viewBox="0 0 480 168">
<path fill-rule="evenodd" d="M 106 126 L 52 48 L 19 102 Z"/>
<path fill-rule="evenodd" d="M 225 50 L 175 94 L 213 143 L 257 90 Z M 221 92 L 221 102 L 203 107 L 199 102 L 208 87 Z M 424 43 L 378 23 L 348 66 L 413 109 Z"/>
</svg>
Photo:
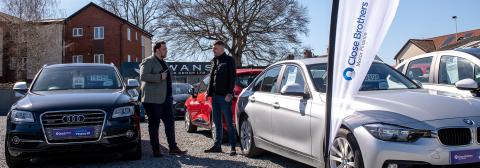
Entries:
<svg viewBox="0 0 480 168">
<path fill-rule="evenodd" d="M 94 40 L 94 27 L 104 27 L 104 39 Z M 73 28 L 83 28 L 82 37 L 73 37 Z M 131 41 L 127 40 L 127 28 L 131 30 Z M 135 39 L 138 32 L 138 40 Z M 122 20 L 90 6 L 81 13 L 70 18 L 65 27 L 64 63 L 72 63 L 72 56 L 83 55 L 84 63 L 93 63 L 94 54 L 104 54 L 105 63 L 114 63 L 117 67 L 127 62 L 130 54 L 141 61 L 141 36 L 147 36 L 139 29 L 123 23 Z"/>
</svg>

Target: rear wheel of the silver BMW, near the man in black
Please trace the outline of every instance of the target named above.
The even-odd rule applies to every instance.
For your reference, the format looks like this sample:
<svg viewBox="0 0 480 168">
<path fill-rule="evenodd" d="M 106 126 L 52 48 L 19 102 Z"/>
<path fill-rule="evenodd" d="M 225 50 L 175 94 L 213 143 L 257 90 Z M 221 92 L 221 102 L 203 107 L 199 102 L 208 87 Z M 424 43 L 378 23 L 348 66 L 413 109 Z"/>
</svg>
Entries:
<svg viewBox="0 0 480 168">
<path fill-rule="evenodd" d="M 253 129 L 250 121 L 248 121 L 248 118 L 244 117 L 240 124 L 240 145 L 242 146 L 242 153 L 247 157 L 258 157 L 262 154 L 263 150 L 257 148 L 255 145 Z"/>
</svg>

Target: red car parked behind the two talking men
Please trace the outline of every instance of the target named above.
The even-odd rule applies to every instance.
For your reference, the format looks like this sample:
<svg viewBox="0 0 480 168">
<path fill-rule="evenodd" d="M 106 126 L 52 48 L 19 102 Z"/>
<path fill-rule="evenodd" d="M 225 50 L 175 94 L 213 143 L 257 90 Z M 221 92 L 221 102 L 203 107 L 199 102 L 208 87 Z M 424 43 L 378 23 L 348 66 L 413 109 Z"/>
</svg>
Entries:
<svg viewBox="0 0 480 168">
<path fill-rule="evenodd" d="M 232 100 L 233 121 L 235 122 L 235 107 L 237 105 L 237 97 L 243 88 L 247 87 L 259 75 L 263 69 L 237 69 L 237 81 L 235 82 L 234 98 Z M 211 99 L 207 100 L 207 88 L 210 82 L 210 75 L 207 75 L 194 89 L 190 91 L 190 96 L 185 101 L 187 112 L 185 113 L 185 129 L 189 133 L 197 131 L 197 127 L 211 130 L 212 138 L 215 138 L 215 124 L 213 124 L 210 114 L 212 113 Z M 223 120 L 225 121 L 225 120 Z M 235 125 L 235 123 L 234 123 Z M 226 124 L 223 123 L 223 129 L 226 130 Z M 227 136 L 224 135 L 224 140 Z"/>
</svg>

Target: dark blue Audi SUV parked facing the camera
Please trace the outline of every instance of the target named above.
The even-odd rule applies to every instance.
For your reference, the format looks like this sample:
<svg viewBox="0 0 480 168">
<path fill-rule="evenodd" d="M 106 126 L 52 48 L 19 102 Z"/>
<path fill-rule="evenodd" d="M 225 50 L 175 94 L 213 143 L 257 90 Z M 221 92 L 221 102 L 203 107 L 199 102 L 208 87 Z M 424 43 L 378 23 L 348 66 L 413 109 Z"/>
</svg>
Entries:
<svg viewBox="0 0 480 168">
<path fill-rule="evenodd" d="M 23 97 L 7 114 L 5 159 L 9 167 L 28 166 L 32 157 L 66 153 L 124 153 L 142 157 L 137 95 L 128 90 L 113 65 L 44 66 L 30 88 L 14 90 Z"/>
</svg>

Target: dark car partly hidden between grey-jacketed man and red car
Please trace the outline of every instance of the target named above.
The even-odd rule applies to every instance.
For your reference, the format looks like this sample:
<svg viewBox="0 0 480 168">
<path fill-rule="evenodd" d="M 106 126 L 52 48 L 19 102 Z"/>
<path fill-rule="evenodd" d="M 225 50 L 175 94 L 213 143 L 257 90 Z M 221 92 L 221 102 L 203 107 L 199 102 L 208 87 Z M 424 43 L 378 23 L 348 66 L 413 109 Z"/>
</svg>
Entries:
<svg viewBox="0 0 480 168">
<path fill-rule="evenodd" d="M 185 107 L 185 101 L 190 97 L 190 89 L 193 86 L 188 83 L 173 83 L 172 84 L 172 94 L 173 94 L 173 112 L 176 117 L 185 117 L 185 112 L 187 111 Z"/>
</svg>

